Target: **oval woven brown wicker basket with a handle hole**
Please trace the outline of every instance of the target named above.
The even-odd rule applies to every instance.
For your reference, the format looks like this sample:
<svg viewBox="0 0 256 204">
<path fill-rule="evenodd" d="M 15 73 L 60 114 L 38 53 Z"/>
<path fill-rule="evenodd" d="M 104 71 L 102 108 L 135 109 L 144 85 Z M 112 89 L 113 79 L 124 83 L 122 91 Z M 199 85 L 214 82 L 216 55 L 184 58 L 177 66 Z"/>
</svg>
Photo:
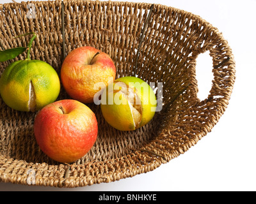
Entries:
<svg viewBox="0 0 256 204">
<path fill-rule="evenodd" d="M 218 29 L 197 15 L 147 3 L 29 3 L 0 4 L 1 50 L 27 45 L 29 36 L 13 37 L 35 32 L 31 59 L 46 61 L 60 73 L 65 55 L 74 48 L 98 48 L 115 62 L 116 78 L 138 75 L 162 82 L 163 109 L 143 128 L 117 131 L 105 122 L 98 105 L 88 104 L 99 123 L 97 141 L 86 156 L 63 164 L 36 144 L 36 113 L 12 110 L 0 99 L 1 182 L 78 187 L 152 171 L 195 145 L 227 108 L 235 80 L 232 50 Z M 196 57 L 207 50 L 214 80 L 208 98 L 200 101 Z M 0 73 L 12 61 L 1 63 Z M 61 87 L 58 99 L 64 98 L 68 96 Z"/>
</svg>

